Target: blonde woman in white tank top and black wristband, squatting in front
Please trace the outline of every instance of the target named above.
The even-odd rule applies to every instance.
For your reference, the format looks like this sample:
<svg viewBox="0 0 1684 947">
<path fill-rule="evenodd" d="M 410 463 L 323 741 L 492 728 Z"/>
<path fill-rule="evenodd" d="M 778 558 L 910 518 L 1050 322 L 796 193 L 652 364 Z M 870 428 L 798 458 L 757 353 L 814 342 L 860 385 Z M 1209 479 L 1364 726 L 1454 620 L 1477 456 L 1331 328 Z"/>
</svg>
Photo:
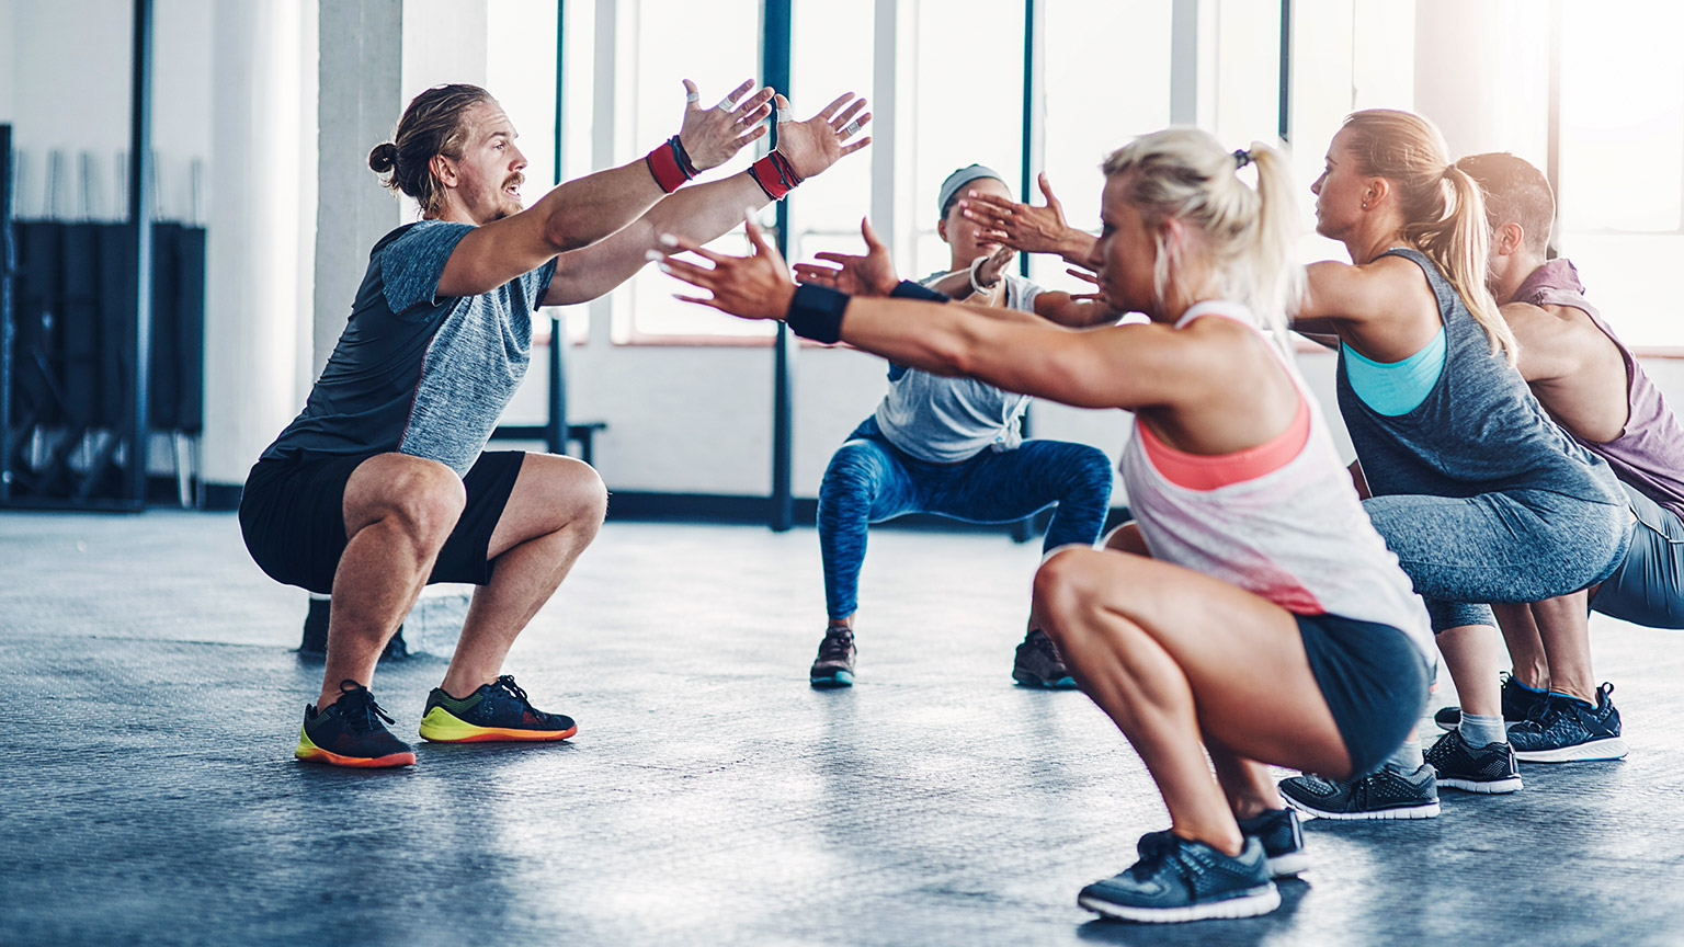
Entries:
<svg viewBox="0 0 1684 947">
<path fill-rule="evenodd" d="M 1113 153 L 1105 172 L 1105 233 L 1088 263 L 1106 302 L 1145 325 L 1069 330 L 938 305 L 896 280 L 881 246 L 839 261 L 857 295 L 798 288 L 753 226 L 749 258 L 674 241 L 712 266 L 663 266 L 711 292 L 694 302 L 786 318 L 810 339 L 1135 413 L 1123 474 L 1142 529 L 1051 553 L 1034 608 L 1140 753 L 1170 827 L 1078 902 L 1145 922 L 1265 913 L 1280 903 L 1271 875 L 1305 866 L 1268 763 L 1334 777 L 1376 765 L 1425 706 L 1431 635 L 1280 334 L 1260 327 L 1282 325 L 1302 281 L 1287 158 L 1170 130 Z"/>
</svg>

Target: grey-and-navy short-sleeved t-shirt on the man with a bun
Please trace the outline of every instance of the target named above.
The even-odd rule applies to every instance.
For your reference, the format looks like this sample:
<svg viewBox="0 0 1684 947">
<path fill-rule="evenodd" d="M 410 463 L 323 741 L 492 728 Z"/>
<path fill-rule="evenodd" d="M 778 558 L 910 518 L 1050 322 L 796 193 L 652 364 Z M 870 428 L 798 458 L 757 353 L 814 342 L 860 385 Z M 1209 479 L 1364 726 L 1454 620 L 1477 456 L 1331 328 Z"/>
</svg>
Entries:
<svg viewBox="0 0 1684 947">
<path fill-rule="evenodd" d="M 438 297 L 472 229 L 421 221 L 374 244 L 333 356 L 264 458 L 408 453 L 458 477 L 473 467 L 525 377 L 556 261 L 478 297 Z"/>
</svg>

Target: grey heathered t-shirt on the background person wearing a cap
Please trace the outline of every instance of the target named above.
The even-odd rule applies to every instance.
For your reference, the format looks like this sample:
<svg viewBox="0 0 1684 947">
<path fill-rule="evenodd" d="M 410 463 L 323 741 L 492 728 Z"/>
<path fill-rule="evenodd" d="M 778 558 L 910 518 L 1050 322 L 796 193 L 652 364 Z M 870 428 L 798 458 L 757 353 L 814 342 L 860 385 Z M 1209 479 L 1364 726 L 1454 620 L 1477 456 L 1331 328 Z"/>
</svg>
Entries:
<svg viewBox="0 0 1684 947">
<path fill-rule="evenodd" d="M 925 278 L 930 285 L 946 273 Z M 1005 305 L 1034 312 L 1041 286 L 1005 276 Z M 894 447 L 930 463 L 958 463 L 983 448 L 1015 450 L 1027 394 L 1000 391 L 968 377 L 945 377 L 889 366 L 889 393 L 877 404 L 877 428 Z"/>
</svg>

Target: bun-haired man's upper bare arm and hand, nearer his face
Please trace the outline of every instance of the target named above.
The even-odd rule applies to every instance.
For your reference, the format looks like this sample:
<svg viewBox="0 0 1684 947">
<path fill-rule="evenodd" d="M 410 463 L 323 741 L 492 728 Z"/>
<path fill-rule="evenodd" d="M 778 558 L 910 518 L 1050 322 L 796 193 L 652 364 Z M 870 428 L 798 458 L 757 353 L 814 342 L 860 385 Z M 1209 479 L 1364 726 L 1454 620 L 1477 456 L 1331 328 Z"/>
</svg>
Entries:
<svg viewBox="0 0 1684 947">
<path fill-rule="evenodd" d="M 771 111 L 771 89 L 731 104 L 753 86 L 753 81 L 743 83 L 719 108 L 687 103 L 679 140 L 697 169 L 724 163 L 743 145 L 766 133 L 759 121 Z M 689 81 L 685 88 L 694 93 Z M 564 182 L 525 211 L 482 224 L 461 238 L 445 263 L 438 293 L 473 297 L 495 290 L 537 270 L 557 253 L 618 231 L 660 197 L 662 189 L 643 158 Z"/>
</svg>

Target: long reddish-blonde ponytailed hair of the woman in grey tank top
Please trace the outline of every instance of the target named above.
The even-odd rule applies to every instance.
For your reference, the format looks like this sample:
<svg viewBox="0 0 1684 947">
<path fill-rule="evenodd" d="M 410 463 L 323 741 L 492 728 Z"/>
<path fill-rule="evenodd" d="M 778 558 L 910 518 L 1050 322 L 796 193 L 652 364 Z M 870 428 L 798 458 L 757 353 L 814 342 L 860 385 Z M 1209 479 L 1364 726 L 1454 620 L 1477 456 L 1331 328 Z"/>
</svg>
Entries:
<svg viewBox="0 0 1684 947">
<path fill-rule="evenodd" d="M 1485 288 L 1490 224 L 1479 184 L 1450 163 L 1438 126 L 1410 111 L 1371 108 L 1346 116 L 1347 148 L 1362 177 L 1393 184 L 1403 211 L 1403 239 L 1415 244 L 1455 286 L 1490 339 L 1490 352 L 1512 366 L 1514 330 Z"/>
</svg>

